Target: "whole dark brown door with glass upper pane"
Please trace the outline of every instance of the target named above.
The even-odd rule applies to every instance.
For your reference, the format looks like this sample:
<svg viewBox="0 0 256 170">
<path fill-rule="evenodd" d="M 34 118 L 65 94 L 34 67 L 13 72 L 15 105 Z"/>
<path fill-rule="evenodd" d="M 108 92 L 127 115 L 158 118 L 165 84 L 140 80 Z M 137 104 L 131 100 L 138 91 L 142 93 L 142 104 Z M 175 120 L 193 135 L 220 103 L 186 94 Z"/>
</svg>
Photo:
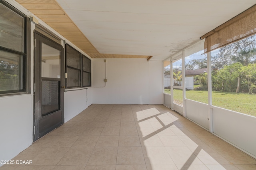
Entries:
<svg viewBox="0 0 256 170">
<path fill-rule="evenodd" d="M 64 123 L 64 48 L 35 33 L 34 141 Z"/>
</svg>

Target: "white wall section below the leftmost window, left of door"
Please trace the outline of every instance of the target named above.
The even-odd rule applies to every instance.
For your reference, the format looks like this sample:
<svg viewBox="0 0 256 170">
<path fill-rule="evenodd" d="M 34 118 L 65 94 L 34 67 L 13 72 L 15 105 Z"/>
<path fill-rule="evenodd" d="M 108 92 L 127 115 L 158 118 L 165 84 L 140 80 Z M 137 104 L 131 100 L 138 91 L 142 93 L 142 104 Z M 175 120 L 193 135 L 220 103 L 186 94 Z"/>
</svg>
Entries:
<svg viewBox="0 0 256 170">
<path fill-rule="evenodd" d="M 11 160 L 32 144 L 32 104 L 32 94 L 0 98 L 0 160 Z"/>
</svg>

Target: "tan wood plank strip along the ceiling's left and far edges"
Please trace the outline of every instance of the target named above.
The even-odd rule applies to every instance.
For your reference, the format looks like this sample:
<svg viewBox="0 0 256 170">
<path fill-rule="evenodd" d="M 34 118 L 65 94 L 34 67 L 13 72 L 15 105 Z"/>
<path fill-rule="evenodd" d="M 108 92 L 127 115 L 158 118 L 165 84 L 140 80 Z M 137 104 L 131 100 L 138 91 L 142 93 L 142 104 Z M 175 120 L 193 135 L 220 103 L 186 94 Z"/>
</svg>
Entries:
<svg viewBox="0 0 256 170">
<path fill-rule="evenodd" d="M 16 0 L 91 58 L 148 58 L 148 55 L 102 54 L 68 17 L 55 0 Z"/>
</svg>

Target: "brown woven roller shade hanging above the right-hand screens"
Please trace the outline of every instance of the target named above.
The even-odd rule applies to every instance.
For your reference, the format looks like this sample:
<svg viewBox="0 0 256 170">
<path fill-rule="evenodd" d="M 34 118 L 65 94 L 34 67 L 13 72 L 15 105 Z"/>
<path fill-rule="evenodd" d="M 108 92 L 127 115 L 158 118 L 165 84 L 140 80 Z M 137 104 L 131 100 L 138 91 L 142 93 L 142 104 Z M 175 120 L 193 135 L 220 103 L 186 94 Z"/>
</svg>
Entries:
<svg viewBox="0 0 256 170">
<path fill-rule="evenodd" d="M 255 34 L 255 18 L 256 5 L 200 37 L 200 39 L 206 38 L 204 41 L 204 53 Z"/>
</svg>

